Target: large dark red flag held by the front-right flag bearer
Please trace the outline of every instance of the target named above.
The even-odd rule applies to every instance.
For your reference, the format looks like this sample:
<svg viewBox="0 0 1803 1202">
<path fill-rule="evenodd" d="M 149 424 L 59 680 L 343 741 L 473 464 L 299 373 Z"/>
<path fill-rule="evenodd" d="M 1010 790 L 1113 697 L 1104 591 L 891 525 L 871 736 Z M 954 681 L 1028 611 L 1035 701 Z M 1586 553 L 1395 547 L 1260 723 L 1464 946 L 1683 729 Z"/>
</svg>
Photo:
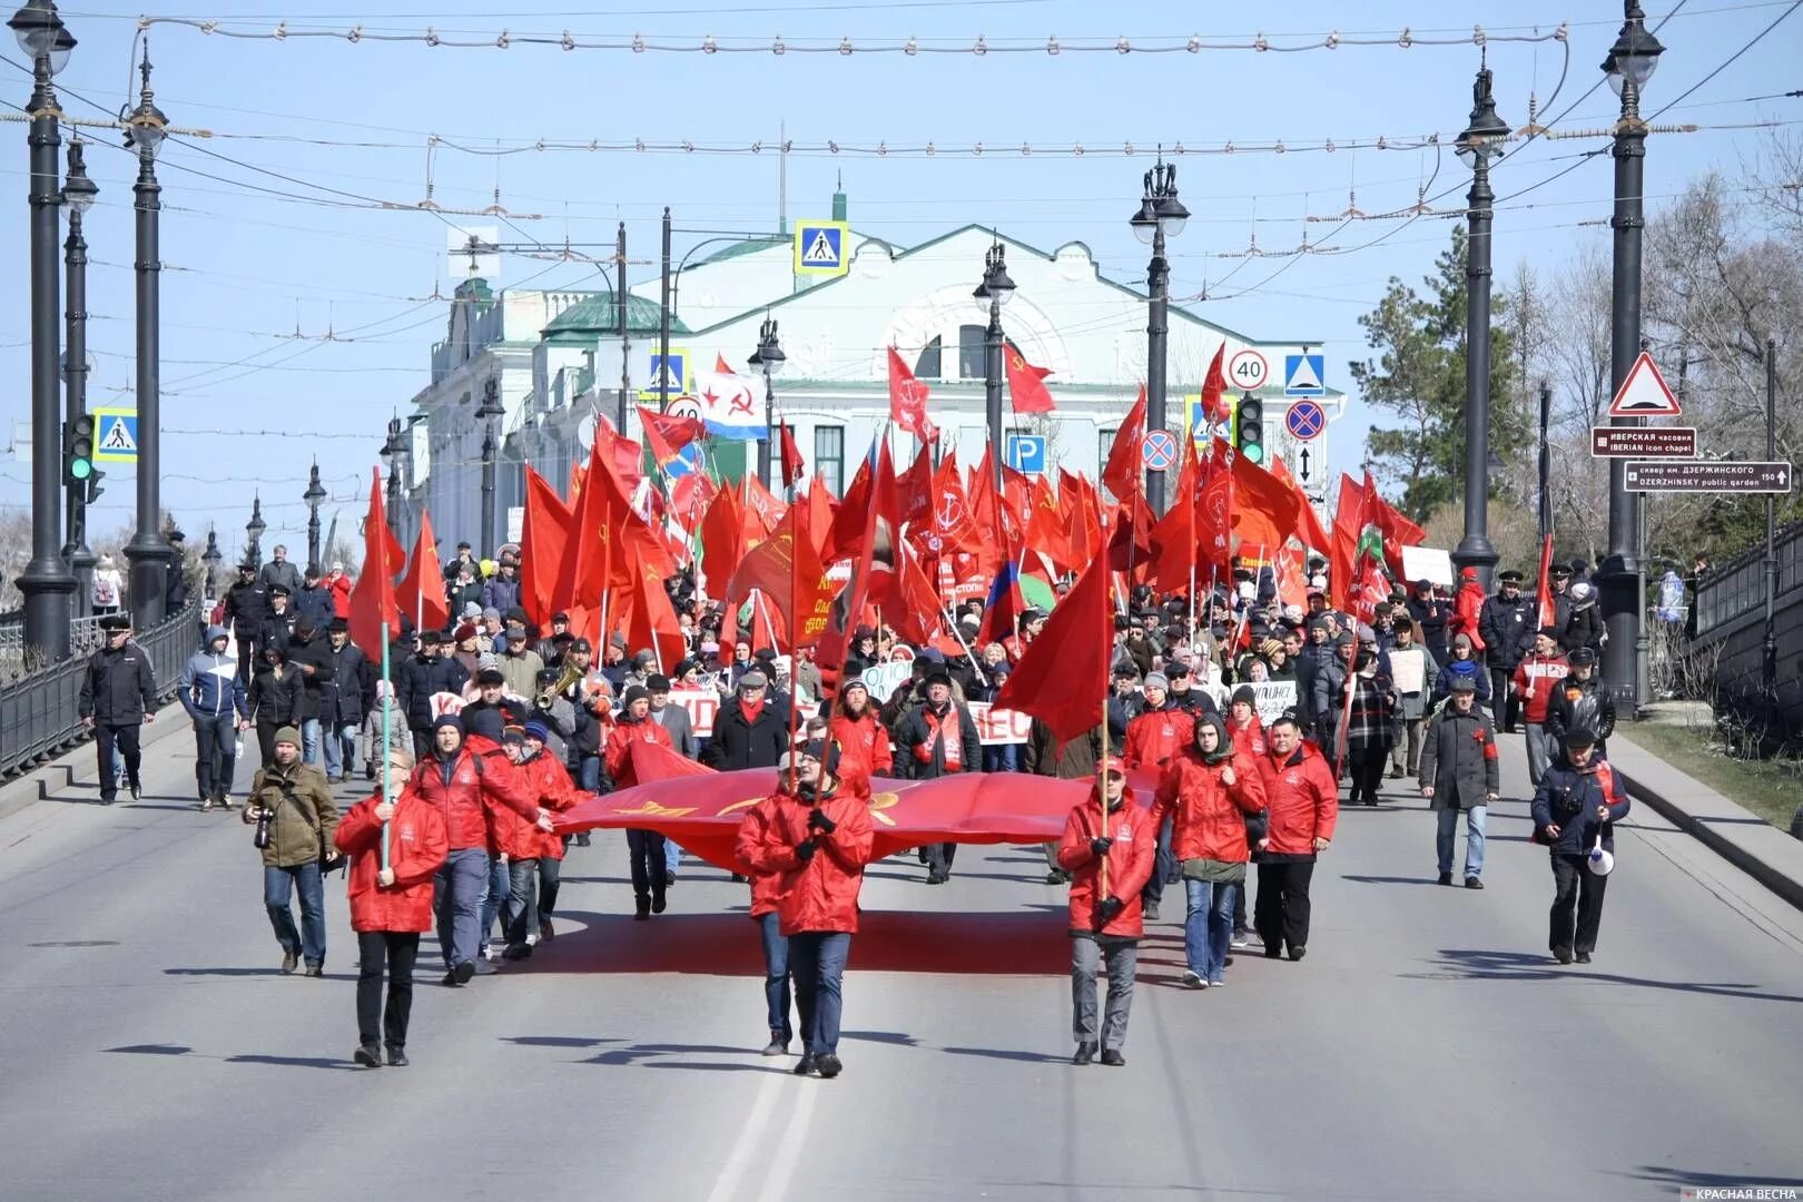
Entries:
<svg viewBox="0 0 1803 1202">
<path fill-rule="evenodd" d="M 1028 645 L 995 708 L 1031 714 L 1060 742 L 1089 733 L 1102 721 L 1112 636 L 1109 566 L 1098 555 Z"/>
</svg>

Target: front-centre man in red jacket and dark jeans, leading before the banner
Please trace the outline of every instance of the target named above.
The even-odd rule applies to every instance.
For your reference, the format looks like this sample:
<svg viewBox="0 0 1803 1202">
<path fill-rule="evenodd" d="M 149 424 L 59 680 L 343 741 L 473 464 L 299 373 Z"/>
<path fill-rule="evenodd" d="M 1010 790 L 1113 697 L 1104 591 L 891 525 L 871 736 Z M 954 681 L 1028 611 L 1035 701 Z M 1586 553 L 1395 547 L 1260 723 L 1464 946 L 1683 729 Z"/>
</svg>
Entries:
<svg viewBox="0 0 1803 1202">
<path fill-rule="evenodd" d="M 840 793 L 820 741 L 786 751 L 752 867 L 779 874 L 777 930 L 790 941 L 801 1060 L 795 1076 L 837 1078 L 846 957 L 858 930 L 858 890 L 871 861 L 871 807 Z M 793 762 L 795 780 L 788 780 Z"/>
</svg>

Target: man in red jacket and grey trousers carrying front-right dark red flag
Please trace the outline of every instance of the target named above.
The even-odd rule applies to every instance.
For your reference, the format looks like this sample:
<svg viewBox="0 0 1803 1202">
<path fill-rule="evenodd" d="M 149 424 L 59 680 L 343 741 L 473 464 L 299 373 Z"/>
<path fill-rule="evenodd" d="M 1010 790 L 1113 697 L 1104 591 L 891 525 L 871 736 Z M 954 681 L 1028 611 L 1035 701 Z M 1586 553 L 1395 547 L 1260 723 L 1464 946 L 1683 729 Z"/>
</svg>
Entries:
<svg viewBox="0 0 1803 1202">
<path fill-rule="evenodd" d="M 1107 798 L 1107 815 L 1102 813 Z M 1158 860 L 1152 818 L 1132 804 L 1127 762 L 1111 755 L 1089 797 L 1071 809 L 1058 840 L 1058 867 L 1071 874 L 1073 1065 L 1125 1065 L 1127 1013 L 1139 968 L 1139 890 Z M 1107 961 L 1107 1011 L 1096 1027 L 1096 970 Z"/>
</svg>

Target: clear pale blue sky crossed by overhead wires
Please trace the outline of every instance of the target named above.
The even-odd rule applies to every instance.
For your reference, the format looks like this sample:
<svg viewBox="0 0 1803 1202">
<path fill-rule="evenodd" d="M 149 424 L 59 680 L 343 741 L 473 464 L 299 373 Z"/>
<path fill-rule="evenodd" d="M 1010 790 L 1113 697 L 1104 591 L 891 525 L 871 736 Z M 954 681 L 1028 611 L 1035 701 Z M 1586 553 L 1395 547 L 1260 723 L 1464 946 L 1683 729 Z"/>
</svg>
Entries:
<svg viewBox="0 0 1803 1202">
<path fill-rule="evenodd" d="M 568 0 L 566 0 L 568 4 Z M 1650 22 L 1677 0 L 1650 5 Z M 220 18 L 225 5 L 184 5 L 182 16 Z M 528 4 L 499 14 L 494 0 L 377 0 L 375 13 L 348 14 L 343 0 L 247 0 L 231 5 L 234 29 L 270 29 L 287 18 L 305 25 L 368 32 L 422 32 L 494 38 L 572 31 L 577 36 L 642 34 L 700 41 L 701 36 L 903 41 L 945 38 L 974 43 L 1044 43 L 1127 36 L 1139 45 L 1249 36 L 1257 25 L 1237 13 L 1197 16 L 1201 5 L 1075 4 L 1066 0 L 992 0 L 965 4 L 755 4 L 676 0 L 667 9 L 600 7 L 575 0 L 566 9 Z M 1668 52 L 1652 81 L 1646 110 L 1670 103 L 1767 23 L 1787 4 L 1689 0 L 1662 29 Z M 139 9 L 106 0 L 72 0 L 63 18 L 79 40 L 58 77 L 74 117 L 115 112 L 135 103 L 130 72 Z M 251 13 L 251 16 L 243 16 Z M 1296 54 L 1204 50 L 1201 54 L 1046 52 L 975 56 L 889 56 L 855 52 L 633 54 L 561 50 L 514 43 L 501 49 L 429 49 L 343 38 L 236 40 L 160 25 L 150 32 L 157 103 L 171 123 L 220 137 L 171 142 L 160 160 L 164 505 L 193 539 L 216 523 L 222 546 L 234 553 L 243 537 L 251 496 L 261 492 L 270 539 L 305 542 L 310 456 L 332 494 L 323 510 L 339 510 L 355 528 L 368 492 L 384 423 L 427 382 L 431 344 L 444 337 L 447 306 L 429 301 L 449 292 L 445 223 L 429 213 L 384 211 L 366 202 L 413 205 L 427 195 L 444 207 L 494 202 L 514 216 L 503 236 L 561 245 L 606 243 L 627 223 L 633 281 L 656 274 L 656 220 L 665 204 L 683 229 L 766 231 L 777 220 L 777 159 L 770 146 L 786 123 L 799 144 L 889 146 L 934 142 L 939 148 L 983 142 L 981 157 L 792 155 L 790 216 L 824 216 L 842 177 L 853 223 L 898 243 L 916 243 L 965 222 L 995 223 L 1035 245 L 1080 238 L 1116 279 L 1139 279 L 1145 249 L 1127 218 L 1138 205 L 1149 153 L 1123 157 L 1132 142 L 1150 151 L 1172 146 L 1239 146 L 1286 141 L 1289 146 L 1334 139 L 1327 151 L 1188 155 L 1179 184 L 1194 213 L 1172 243 L 1174 296 L 1210 299 L 1194 308 L 1253 337 L 1313 337 L 1327 350 L 1329 384 L 1349 387 L 1345 364 L 1363 357 L 1358 315 L 1383 294 L 1394 274 L 1417 281 L 1450 238 L 1446 218 L 1352 222 L 1329 218 L 1406 209 L 1421 189 L 1460 204 L 1468 184 L 1450 146 L 1433 150 L 1345 150 L 1349 141 L 1444 141 L 1466 124 L 1478 49 L 1473 23 L 1495 34 L 1549 32 L 1570 23 L 1569 74 L 1556 41 L 1489 45 L 1496 97 L 1515 126 L 1536 96 L 1542 119 L 1576 108 L 1565 130 L 1603 130 L 1617 101 L 1601 79 L 1601 63 L 1621 22 L 1619 4 L 1596 0 L 1524 5 L 1403 4 L 1268 5 L 1258 18 L 1273 43 L 1340 29 L 1415 38 L 1466 38 L 1462 45 L 1396 45 Z M 1749 101 L 1798 87 L 1785 50 L 1796 47 L 1792 18 L 1700 87 L 1668 121 L 1704 126 L 1744 124 L 1798 115 L 1796 99 Z M 1356 31 L 1352 29 L 1356 27 Z M 472 31 L 453 34 L 451 31 Z M 7 54 L 18 63 L 16 49 Z M 23 105 L 29 79 L 0 65 L 0 99 Z M 130 83 L 130 92 L 126 85 Z M 13 182 L 0 211 L 11 288 L 0 294 L 0 393 L 5 427 L 29 418 L 27 146 L 25 130 L 7 124 L 13 153 L 0 175 Z M 427 135 L 454 142 L 427 153 Z M 236 137 L 224 137 L 236 135 Z M 94 132 L 88 169 L 101 187 L 88 214 L 88 342 L 97 371 L 88 404 L 132 404 L 132 209 L 133 162 L 114 150 L 117 135 Z M 1686 180 L 1718 169 L 1738 180 L 1760 151 L 1760 132 L 1706 128 L 1655 137 L 1648 153 L 1648 205 L 1657 209 Z M 645 142 L 764 142 L 761 155 L 608 153 L 516 148 L 537 139 Z M 1033 155 L 1019 151 L 1022 142 Z M 1089 153 L 1053 153 L 1084 144 Z M 1599 139 L 1540 141 L 1495 171 L 1502 202 L 1496 267 L 1506 279 L 1518 261 L 1558 269 L 1585 243 L 1606 245 L 1601 222 L 1610 207 L 1610 162 L 1597 157 L 1569 175 L 1511 202 L 1511 196 L 1572 164 Z M 1008 148 L 1008 150 L 1004 150 Z M 1111 148 L 1114 153 L 1100 153 Z M 211 151 L 211 153 L 207 153 Z M 215 155 L 225 155 L 227 162 Z M 240 166 L 243 164 L 243 166 Z M 290 182 L 279 177 L 290 177 Z M 215 177 L 215 178 L 207 178 Z M 326 191 L 335 189 L 335 191 Z M 355 207 L 343 207 L 343 205 Z M 528 216 L 528 214 L 537 214 Z M 456 218 L 481 220 L 481 218 Z M 1251 243 L 1271 258 L 1221 258 Z M 1278 258 L 1300 245 L 1363 247 L 1345 254 Z M 1385 236 L 1381 241 L 1374 241 Z M 1372 245 L 1367 245 L 1372 243 Z M 602 254 L 600 247 L 593 249 Z M 678 245 L 678 254 L 682 245 Z M 972 283 L 981 263 L 970 265 Z M 510 256 L 503 287 L 606 287 L 586 263 L 552 265 Z M 299 330 L 303 339 L 292 339 Z M 328 330 L 334 341 L 325 341 Z M 750 348 L 746 348 L 750 350 Z M 233 366 L 234 364 L 234 366 Z M 1332 431 L 1336 465 L 1356 463 L 1370 420 L 1354 402 Z M 0 510 L 29 505 L 29 461 L 0 463 Z M 132 517 L 132 476 L 112 469 L 106 496 L 90 517 L 114 530 Z"/>
</svg>

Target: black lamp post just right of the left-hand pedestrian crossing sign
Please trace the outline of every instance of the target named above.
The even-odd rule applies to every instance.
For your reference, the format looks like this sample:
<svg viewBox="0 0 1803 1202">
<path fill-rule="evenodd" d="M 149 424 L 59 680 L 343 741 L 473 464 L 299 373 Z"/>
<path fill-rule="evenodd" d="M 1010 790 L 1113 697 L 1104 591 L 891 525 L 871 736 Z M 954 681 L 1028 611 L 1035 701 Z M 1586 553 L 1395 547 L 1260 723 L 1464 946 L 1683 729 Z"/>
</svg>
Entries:
<svg viewBox="0 0 1803 1202">
<path fill-rule="evenodd" d="M 142 88 L 137 108 L 126 117 L 126 144 L 137 151 L 137 182 L 132 184 L 137 213 L 137 533 L 124 546 L 132 560 L 132 624 L 148 631 L 164 618 L 164 595 L 175 550 L 164 541 L 162 523 L 162 261 L 157 247 L 157 218 L 162 211 L 162 186 L 157 184 L 157 150 L 168 137 L 169 121 L 151 101 L 150 43 L 139 63 Z"/>
</svg>

